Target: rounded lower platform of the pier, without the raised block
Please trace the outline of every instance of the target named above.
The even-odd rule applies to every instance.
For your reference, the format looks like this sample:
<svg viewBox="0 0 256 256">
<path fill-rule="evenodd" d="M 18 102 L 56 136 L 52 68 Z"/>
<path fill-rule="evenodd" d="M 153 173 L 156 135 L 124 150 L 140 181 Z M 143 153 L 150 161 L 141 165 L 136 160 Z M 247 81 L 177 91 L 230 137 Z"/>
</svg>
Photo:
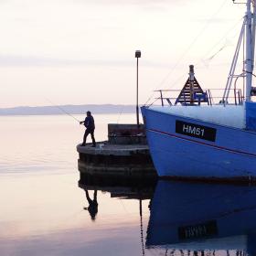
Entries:
<svg viewBox="0 0 256 256">
<path fill-rule="evenodd" d="M 156 176 L 147 145 L 102 142 L 95 148 L 91 144 L 78 145 L 77 150 L 80 153 L 81 173 L 98 176 Z"/>
</svg>

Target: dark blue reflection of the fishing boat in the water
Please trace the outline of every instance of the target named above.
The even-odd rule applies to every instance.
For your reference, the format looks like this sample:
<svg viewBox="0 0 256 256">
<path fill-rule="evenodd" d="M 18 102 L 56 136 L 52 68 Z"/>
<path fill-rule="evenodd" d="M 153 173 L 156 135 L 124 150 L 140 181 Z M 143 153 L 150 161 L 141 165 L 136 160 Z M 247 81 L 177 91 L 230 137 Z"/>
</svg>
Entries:
<svg viewBox="0 0 256 256">
<path fill-rule="evenodd" d="M 256 255 L 255 216 L 256 187 L 159 181 L 146 248 L 165 255 Z"/>
</svg>

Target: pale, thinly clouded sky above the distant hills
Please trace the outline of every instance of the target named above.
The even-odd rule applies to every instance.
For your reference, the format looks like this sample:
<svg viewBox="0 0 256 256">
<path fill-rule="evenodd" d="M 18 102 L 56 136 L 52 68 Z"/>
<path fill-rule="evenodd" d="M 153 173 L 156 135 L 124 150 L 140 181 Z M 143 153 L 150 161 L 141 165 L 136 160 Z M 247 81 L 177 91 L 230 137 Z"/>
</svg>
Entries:
<svg viewBox="0 0 256 256">
<path fill-rule="evenodd" d="M 181 89 L 190 64 L 204 89 L 224 88 L 244 12 L 231 0 L 0 0 L 0 108 L 135 104 L 135 50 L 140 104 Z"/>
</svg>

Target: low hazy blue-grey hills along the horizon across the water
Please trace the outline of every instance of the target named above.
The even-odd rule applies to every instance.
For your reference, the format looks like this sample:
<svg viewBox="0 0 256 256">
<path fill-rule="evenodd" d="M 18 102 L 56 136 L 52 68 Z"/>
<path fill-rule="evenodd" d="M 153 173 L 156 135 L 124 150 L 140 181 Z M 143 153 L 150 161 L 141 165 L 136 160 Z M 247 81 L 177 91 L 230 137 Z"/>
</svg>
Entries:
<svg viewBox="0 0 256 256">
<path fill-rule="evenodd" d="M 133 105 L 59 105 L 59 106 L 42 106 L 42 107 L 15 107 L 2 108 L 0 115 L 33 115 L 33 114 L 63 114 L 68 112 L 71 114 L 85 114 L 87 111 L 92 113 L 133 113 L 135 106 Z"/>
</svg>

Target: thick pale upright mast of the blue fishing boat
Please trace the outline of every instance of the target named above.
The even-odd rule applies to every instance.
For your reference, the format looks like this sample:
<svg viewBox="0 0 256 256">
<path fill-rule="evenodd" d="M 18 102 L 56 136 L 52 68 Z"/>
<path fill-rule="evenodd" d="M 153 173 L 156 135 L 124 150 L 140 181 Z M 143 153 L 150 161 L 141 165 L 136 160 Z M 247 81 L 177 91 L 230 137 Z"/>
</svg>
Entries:
<svg viewBox="0 0 256 256">
<path fill-rule="evenodd" d="M 253 53 L 254 53 L 254 37 L 252 35 L 252 26 L 251 26 L 251 2 L 254 6 L 254 0 L 247 0 L 247 11 L 246 11 L 246 59 L 245 59 L 245 72 L 246 72 L 246 91 L 245 91 L 245 101 L 251 101 L 251 80 L 252 80 L 252 70 L 253 70 Z M 254 13 L 254 12 L 253 12 Z M 254 26 L 254 24 L 253 24 Z M 254 29 L 253 29 L 254 30 Z M 253 37 L 253 39 L 252 39 Z"/>
</svg>

